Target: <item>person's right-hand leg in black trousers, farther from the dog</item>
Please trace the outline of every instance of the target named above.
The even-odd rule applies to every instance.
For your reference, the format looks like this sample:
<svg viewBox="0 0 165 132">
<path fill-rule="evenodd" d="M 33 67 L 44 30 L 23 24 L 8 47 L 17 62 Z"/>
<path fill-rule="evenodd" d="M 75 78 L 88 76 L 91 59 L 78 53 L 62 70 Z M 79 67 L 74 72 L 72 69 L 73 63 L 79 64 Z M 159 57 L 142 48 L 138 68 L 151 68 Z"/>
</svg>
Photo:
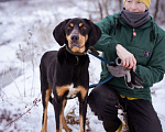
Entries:
<svg viewBox="0 0 165 132">
<path fill-rule="evenodd" d="M 162 132 L 160 119 L 147 100 L 128 100 L 128 124 L 130 132 Z"/>
</svg>

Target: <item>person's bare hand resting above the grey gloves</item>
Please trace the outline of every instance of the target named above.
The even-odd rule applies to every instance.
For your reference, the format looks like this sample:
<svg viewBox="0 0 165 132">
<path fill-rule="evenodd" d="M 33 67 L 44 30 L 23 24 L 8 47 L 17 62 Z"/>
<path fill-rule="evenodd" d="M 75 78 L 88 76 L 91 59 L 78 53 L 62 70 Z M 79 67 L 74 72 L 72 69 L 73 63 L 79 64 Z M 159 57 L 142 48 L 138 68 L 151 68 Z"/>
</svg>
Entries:
<svg viewBox="0 0 165 132">
<path fill-rule="evenodd" d="M 132 53 L 130 53 L 129 51 L 127 51 L 122 45 L 117 44 L 117 55 L 120 57 L 120 59 L 122 61 L 122 66 L 127 67 L 129 69 L 131 68 L 135 68 L 136 66 L 136 59 L 134 57 L 134 55 Z"/>
</svg>

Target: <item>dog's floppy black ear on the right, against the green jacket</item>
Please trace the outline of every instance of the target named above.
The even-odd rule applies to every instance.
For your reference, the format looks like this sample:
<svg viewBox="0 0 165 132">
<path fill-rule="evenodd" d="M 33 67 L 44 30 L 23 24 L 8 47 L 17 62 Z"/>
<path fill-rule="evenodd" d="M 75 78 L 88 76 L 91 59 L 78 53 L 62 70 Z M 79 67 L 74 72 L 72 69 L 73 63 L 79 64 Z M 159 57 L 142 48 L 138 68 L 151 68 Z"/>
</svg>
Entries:
<svg viewBox="0 0 165 132">
<path fill-rule="evenodd" d="M 89 46 L 94 46 L 101 37 L 102 32 L 101 32 L 100 28 L 98 25 L 96 25 L 92 21 L 87 20 L 87 19 L 85 19 L 85 21 L 87 23 L 89 23 L 89 25 L 91 28 L 87 43 L 89 44 Z"/>
</svg>

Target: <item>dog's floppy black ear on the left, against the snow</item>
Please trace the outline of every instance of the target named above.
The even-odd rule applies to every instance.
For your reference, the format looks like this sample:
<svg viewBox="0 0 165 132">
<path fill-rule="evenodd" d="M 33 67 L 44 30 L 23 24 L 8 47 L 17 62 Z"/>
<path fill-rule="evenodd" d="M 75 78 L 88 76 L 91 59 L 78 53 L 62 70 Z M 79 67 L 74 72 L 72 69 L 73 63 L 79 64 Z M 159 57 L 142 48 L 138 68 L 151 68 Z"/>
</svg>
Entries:
<svg viewBox="0 0 165 132">
<path fill-rule="evenodd" d="M 65 25 L 69 20 L 70 19 L 64 20 L 53 31 L 53 36 L 61 46 L 67 43 L 66 35 L 65 35 Z"/>
</svg>

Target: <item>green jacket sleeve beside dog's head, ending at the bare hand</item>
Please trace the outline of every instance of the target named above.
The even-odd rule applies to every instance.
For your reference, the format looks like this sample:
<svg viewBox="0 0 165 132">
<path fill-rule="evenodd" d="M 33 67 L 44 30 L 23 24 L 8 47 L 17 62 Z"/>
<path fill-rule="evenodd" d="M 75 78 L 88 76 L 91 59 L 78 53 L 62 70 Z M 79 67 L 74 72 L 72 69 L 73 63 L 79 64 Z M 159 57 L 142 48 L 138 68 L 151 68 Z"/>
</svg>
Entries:
<svg viewBox="0 0 165 132">
<path fill-rule="evenodd" d="M 114 19 L 113 15 L 109 15 L 101 20 L 99 23 L 96 23 L 102 31 L 102 35 L 98 43 L 94 46 L 96 50 L 101 52 L 114 52 L 116 46 L 119 42 L 116 38 L 112 38 L 109 34 L 114 29 Z"/>
</svg>

